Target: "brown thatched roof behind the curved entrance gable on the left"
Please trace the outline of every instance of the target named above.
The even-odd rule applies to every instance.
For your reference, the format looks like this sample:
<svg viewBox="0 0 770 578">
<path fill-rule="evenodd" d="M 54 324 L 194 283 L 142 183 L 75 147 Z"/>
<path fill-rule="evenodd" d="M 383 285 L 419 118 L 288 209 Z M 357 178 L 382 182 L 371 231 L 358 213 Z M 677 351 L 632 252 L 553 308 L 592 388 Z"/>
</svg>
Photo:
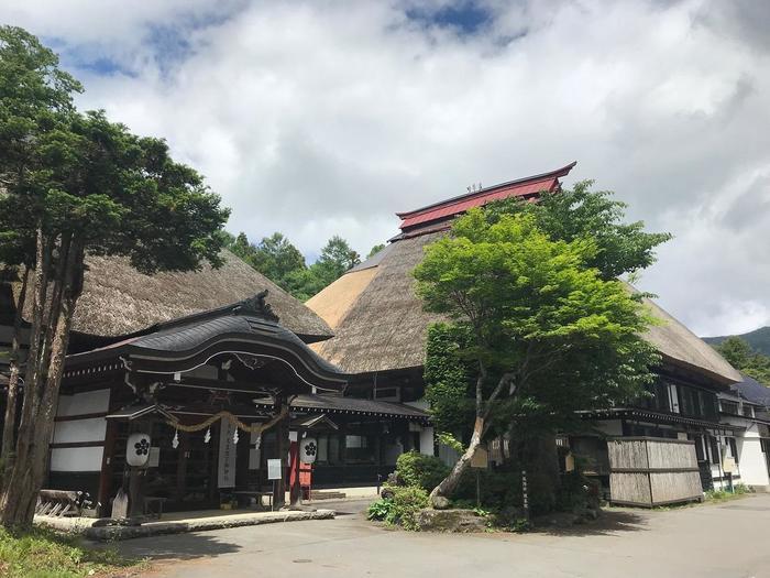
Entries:
<svg viewBox="0 0 770 578">
<path fill-rule="evenodd" d="M 231 252 L 222 255 L 224 264 L 220 269 L 205 264 L 197 272 L 155 275 L 139 273 L 127 259 L 89 257 L 73 328 L 98 336 L 132 334 L 253 297 L 266 288 L 266 302 L 280 325 L 310 341 L 331 336 L 326 321 L 302 303 Z M 31 299 L 26 302 L 29 312 Z"/>
</svg>

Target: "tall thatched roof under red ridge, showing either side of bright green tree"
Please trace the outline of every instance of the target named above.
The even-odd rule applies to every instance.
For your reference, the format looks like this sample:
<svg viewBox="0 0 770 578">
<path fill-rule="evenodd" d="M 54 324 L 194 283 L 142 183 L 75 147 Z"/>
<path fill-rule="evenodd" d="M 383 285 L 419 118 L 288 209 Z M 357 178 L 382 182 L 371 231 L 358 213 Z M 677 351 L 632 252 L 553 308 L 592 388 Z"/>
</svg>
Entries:
<svg viewBox="0 0 770 578">
<path fill-rule="evenodd" d="M 374 266 L 359 265 L 309 299 L 308 307 L 323 317 L 336 335 L 315 349 L 349 373 L 422 366 L 427 328 L 438 317 L 422 310 L 410 272 L 422 259 L 425 246 L 441 235 L 446 233 L 398 240 Z M 713 348 L 658 305 L 647 303 L 664 323 L 650 328 L 645 337 L 664 360 L 722 383 L 741 380 Z"/>
</svg>

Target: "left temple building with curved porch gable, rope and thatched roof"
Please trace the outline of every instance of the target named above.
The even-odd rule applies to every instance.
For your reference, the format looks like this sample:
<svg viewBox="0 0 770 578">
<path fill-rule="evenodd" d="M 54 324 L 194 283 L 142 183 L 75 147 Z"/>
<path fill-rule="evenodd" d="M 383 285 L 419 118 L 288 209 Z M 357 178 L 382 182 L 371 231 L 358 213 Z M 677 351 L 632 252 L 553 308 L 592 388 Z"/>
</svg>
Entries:
<svg viewBox="0 0 770 578">
<path fill-rule="evenodd" d="M 350 377 L 308 347 L 330 338 L 329 326 L 233 254 L 224 261 L 218 270 L 147 276 L 122 259 L 88 260 L 46 489 L 88 492 L 101 515 L 130 488 L 134 501 L 163 501 L 166 510 L 267 494 L 277 503 L 292 444 L 302 438 L 314 439 L 316 456 L 302 477 L 306 494 L 374 486 L 420 441 L 433 451 L 425 411 L 351 397 Z M 4 349 L 13 291 L 18 283 L 2 285 Z M 134 434 L 146 436 L 138 480 L 127 467 Z M 284 462 L 277 484 L 268 480 L 271 459 Z"/>
</svg>

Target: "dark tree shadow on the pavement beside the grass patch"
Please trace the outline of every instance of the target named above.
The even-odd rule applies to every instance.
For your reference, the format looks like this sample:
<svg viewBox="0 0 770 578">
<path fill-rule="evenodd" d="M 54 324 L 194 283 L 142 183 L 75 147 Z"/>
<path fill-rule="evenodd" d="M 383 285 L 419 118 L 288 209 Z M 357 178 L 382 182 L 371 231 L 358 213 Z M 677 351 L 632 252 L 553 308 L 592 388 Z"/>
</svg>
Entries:
<svg viewBox="0 0 770 578">
<path fill-rule="evenodd" d="M 95 548 L 114 548 L 130 558 L 150 558 L 156 560 L 191 560 L 233 554 L 241 546 L 222 542 L 213 533 L 169 534 L 130 539 L 112 544 L 91 544 Z"/>
</svg>

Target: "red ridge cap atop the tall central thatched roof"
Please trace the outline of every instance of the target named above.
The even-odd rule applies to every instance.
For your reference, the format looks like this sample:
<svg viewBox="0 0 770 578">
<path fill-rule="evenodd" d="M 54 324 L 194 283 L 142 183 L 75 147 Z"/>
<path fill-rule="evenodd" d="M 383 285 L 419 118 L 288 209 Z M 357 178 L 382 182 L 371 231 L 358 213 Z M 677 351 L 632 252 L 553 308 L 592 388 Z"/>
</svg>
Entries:
<svg viewBox="0 0 770 578">
<path fill-rule="evenodd" d="M 509 181 L 491 187 L 482 188 L 466 195 L 442 200 L 407 212 L 397 212 L 402 218 L 400 229 L 406 231 L 417 225 L 427 225 L 435 221 L 449 220 L 455 215 L 465 212 L 473 207 L 481 207 L 492 200 L 499 200 L 509 197 L 530 198 L 537 197 L 542 192 L 553 192 L 559 189 L 559 178 L 569 174 L 578 162 L 573 162 L 540 175 L 528 176 L 517 181 Z M 432 227 L 431 227 L 432 228 Z"/>
</svg>

